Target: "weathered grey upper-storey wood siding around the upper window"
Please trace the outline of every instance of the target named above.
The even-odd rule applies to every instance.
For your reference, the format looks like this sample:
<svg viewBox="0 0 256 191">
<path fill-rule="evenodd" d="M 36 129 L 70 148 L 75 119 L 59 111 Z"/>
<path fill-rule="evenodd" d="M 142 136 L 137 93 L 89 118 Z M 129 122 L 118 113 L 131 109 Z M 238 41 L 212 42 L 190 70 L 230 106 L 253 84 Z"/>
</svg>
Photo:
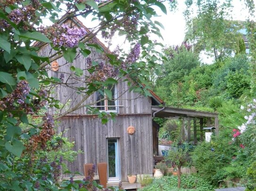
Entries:
<svg viewBox="0 0 256 191">
<path fill-rule="evenodd" d="M 101 61 L 101 55 L 97 53 L 95 50 L 89 48 L 91 50 L 91 60 L 92 61 Z M 45 46 L 41 50 L 41 55 L 51 55 L 54 51 L 50 51 L 49 46 Z M 86 87 L 85 77 L 89 76 L 89 72 L 87 71 L 87 64 L 86 58 L 83 56 L 77 56 L 77 59 L 74 60 L 73 63 L 66 63 L 64 58 L 60 58 L 57 60 L 58 64 L 60 65 L 58 71 L 54 72 L 52 70 L 48 70 L 48 75 L 50 77 L 57 77 L 60 78 L 60 74 L 63 73 L 65 75 L 64 83 L 70 84 L 71 86 L 75 87 Z M 80 80 L 77 80 L 76 77 L 69 76 L 68 74 L 74 74 L 71 71 L 70 67 L 74 66 L 76 68 L 83 69 L 83 76 L 80 77 Z M 129 87 L 127 81 L 124 82 L 120 80 L 117 85 L 117 95 L 118 98 L 117 105 L 119 107 L 120 114 L 143 114 L 143 113 L 151 113 L 151 99 L 146 98 L 143 95 L 140 95 L 137 92 L 129 92 Z M 61 104 L 65 105 L 64 109 L 62 109 L 61 113 L 63 113 L 68 108 L 74 107 L 77 103 L 82 100 L 81 94 L 78 94 L 74 88 L 65 87 L 58 85 L 54 91 L 52 92 L 52 96 L 56 99 L 59 99 Z M 96 101 L 95 94 L 91 95 L 84 104 L 90 104 Z M 94 104 L 95 106 L 96 104 Z M 76 110 L 73 114 L 83 115 L 86 114 L 87 110 L 86 107 L 80 108 Z M 50 108 L 50 113 L 55 114 L 55 108 Z"/>
</svg>

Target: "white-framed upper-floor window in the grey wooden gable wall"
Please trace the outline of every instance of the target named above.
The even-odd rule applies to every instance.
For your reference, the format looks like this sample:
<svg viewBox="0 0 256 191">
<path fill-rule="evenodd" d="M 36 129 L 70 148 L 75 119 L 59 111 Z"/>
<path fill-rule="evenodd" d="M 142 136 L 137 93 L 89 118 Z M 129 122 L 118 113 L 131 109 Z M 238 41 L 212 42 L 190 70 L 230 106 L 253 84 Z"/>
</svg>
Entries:
<svg viewBox="0 0 256 191">
<path fill-rule="evenodd" d="M 107 89 L 108 92 L 111 92 L 112 97 L 108 98 L 107 94 L 106 94 L 106 90 L 104 91 L 104 89 Z M 116 91 L 116 85 L 114 86 L 108 86 L 108 87 L 104 87 L 101 90 L 99 90 L 98 92 L 96 92 L 96 101 L 97 104 L 96 106 L 99 108 L 100 111 L 106 111 L 106 112 L 116 112 L 117 111 L 117 104 L 116 104 L 116 98 L 117 98 L 117 91 Z M 105 99 L 104 99 L 105 98 Z M 107 99 L 106 99 L 107 98 Z M 103 100 L 101 100 L 103 99 Z"/>
</svg>

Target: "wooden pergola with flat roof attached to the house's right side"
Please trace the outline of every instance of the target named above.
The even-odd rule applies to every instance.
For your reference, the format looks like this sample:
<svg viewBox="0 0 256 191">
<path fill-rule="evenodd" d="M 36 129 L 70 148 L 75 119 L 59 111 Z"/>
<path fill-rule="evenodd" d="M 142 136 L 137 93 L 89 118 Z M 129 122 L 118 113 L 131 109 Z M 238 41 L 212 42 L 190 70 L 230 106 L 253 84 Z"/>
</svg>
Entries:
<svg viewBox="0 0 256 191">
<path fill-rule="evenodd" d="M 215 134 L 219 133 L 218 114 L 212 112 L 200 112 L 190 109 L 152 106 L 152 115 L 154 117 L 181 119 L 182 120 L 182 140 L 190 142 L 191 139 L 191 121 L 193 121 L 193 143 L 197 144 L 198 131 L 200 140 L 204 139 L 204 127 L 215 127 Z"/>
</svg>

